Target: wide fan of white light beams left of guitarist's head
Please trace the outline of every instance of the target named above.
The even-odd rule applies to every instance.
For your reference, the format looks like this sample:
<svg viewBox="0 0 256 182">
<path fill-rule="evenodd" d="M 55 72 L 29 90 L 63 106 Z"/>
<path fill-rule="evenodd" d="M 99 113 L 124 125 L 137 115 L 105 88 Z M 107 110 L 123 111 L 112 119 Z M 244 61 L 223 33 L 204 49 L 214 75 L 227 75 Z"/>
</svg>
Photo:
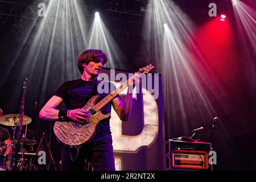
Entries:
<svg viewBox="0 0 256 182">
<path fill-rule="evenodd" d="M 46 16 L 31 14 L 29 21 L 26 21 L 27 18 L 23 19 L 27 17 L 27 11 L 20 14 L 20 27 L 14 26 L 13 30 L 6 34 L 7 37 L 13 36 L 15 46 L 10 48 L 10 52 L 13 52 L 9 58 L 10 66 L 6 67 L 5 73 L 2 74 L 0 88 L 10 80 L 13 69 L 20 59 L 22 64 L 19 68 L 22 71 L 19 72 L 16 81 L 21 83 L 24 78 L 28 78 L 27 89 L 30 90 L 30 85 L 32 86 L 36 78 L 40 86 L 33 85 L 33 89 L 40 90 L 43 95 L 38 98 L 39 103 L 46 102 L 49 85 L 55 85 L 53 89 L 56 89 L 61 82 L 81 76 L 75 63 L 79 53 L 88 48 L 86 9 L 82 9 L 81 3 L 82 1 L 46 1 Z M 24 6 L 22 4 L 20 3 L 20 7 Z M 38 1 L 32 1 L 27 9 L 34 11 L 34 7 L 38 7 Z M 53 64 L 55 66 L 52 66 Z M 52 76 L 56 68 L 59 70 Z M 51 79 L 52 77 L 56 79 Z M 13 92 L 20 91 L 19 86 L 16 86 L 18 84 L 13 87 Z M 16 94 L 10 92 L 10 95 Z M 12 99 L 6 110 L 13 107 L 16 98 Z"/>
</svg>

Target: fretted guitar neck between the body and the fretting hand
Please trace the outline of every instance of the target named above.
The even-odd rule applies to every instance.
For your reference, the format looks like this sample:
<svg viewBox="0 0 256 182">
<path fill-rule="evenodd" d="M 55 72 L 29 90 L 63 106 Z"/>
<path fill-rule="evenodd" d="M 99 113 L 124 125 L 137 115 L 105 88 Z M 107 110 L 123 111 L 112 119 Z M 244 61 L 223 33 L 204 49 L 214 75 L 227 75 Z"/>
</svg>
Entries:
<svg viewBox="0 0 256 182">
<path fill-rule="evenodd" d="M 133 82 L 133 76 L 130 77 L 126 82 L 123 82 L 122 85 L 118 86 L 117 89 L 108 94 L 108 96 L 106 96 L 104 99 L 98 102 L 95 106 L 93 106 L 93 109 L 99 111 L 102 107 L 108 104 L 115 96 L 117 96 L 117 94 L 119 94 L 120 92 L 122 92 L 122 90 L 129 86 L 131 82 Z"/>
</svg>

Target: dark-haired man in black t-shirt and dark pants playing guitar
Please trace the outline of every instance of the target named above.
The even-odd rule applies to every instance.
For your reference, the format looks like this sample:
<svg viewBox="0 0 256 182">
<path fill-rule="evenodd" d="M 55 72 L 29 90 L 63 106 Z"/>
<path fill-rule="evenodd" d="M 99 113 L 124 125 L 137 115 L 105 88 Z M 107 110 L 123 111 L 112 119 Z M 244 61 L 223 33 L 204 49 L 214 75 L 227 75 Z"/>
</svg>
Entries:
<svg viewBox="0 0 256 182">
<path fill-rule="evenodd" d="M 88 110 L 81 108 L 91 97 L 98 94 L 97 76 L 101 73 L 101 69 L 107 61 L 108 57 L 101 50 L 89 49 L 83 52 L 77 61 L 77 67 L 82 77 L 78 80 L 64 82 L 40 111 L 40 119 L 63 122 L 75 121 L 82 124 L 89 121 Z M 109 85 L 109 88 L 113 88 L 113 86 Z M 110 90 L 110 92 L 112 91 Z M 100 100 L 107 95 L 108 93 L 99 94 Z M 63 101 L 68 109 L 57 110 L 56 107 Z M 118 117 L 122 121 L 127 121 L 133 105 L 132 93 L 127 92 L 125 102 L 121 101 L 119 95 L 115 96 L 112 101 L 103 107 L 101 112 L 103 114 L 110 113 L 112 105 Z M 115 170 L 109 119 L 105 118 L 100 121 L 96 134 L 84 146 L 77 148 L 62 146 L 62 170 L 82 170 L 85 159 L 92 163 L 94 171 Z"/>
</svg>

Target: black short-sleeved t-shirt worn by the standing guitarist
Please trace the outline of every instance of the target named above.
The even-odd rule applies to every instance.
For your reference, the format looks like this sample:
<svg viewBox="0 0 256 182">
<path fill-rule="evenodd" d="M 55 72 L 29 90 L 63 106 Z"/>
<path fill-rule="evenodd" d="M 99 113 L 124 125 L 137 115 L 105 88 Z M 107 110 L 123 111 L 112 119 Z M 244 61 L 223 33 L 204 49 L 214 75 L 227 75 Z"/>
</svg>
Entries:
<svg viewBox="0 0 256 182">
<path fill-rule="evenodd" d="M 93 81 L 84 81 L 82 78 L 67 81 L 56 90 L 55 96 L 61 97 L 68 109 L 79 109 L 84 107 L 91 97 L 98 95 L 97 82 L 97 79 Z M 108 86 L 110 92 L 115 89 L 115 86 L 113 86 L 111 82 L 109 82 Z M 109 93 L 99 94 L 99 101 L 108 96 Z M 116 97 L 119 97 L 119 95 Z M 102 108 L 102 114 L 110 113 L 111 107 L 112 101 Z M 110 118 L 101 120 L 98 129 L 110 132 L 109 119 Z"/>
</svg>

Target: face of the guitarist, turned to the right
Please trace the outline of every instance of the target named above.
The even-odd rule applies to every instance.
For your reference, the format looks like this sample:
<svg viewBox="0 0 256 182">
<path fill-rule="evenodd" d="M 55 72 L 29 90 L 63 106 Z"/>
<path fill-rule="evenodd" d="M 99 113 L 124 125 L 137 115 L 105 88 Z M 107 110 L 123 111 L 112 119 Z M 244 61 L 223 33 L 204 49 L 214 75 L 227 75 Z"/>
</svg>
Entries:
<svg viewBox="0 0 256 182">
<path fill-rule="evenodd" d="M 84 72 L 88 73 L 92 76 L 98 76 L 101 73 L 101 69 L 103 66 L 103 58 L 97 57 L 95 60 L 90 60 L 89 63 L 85 65 Z"/>
</svg>

